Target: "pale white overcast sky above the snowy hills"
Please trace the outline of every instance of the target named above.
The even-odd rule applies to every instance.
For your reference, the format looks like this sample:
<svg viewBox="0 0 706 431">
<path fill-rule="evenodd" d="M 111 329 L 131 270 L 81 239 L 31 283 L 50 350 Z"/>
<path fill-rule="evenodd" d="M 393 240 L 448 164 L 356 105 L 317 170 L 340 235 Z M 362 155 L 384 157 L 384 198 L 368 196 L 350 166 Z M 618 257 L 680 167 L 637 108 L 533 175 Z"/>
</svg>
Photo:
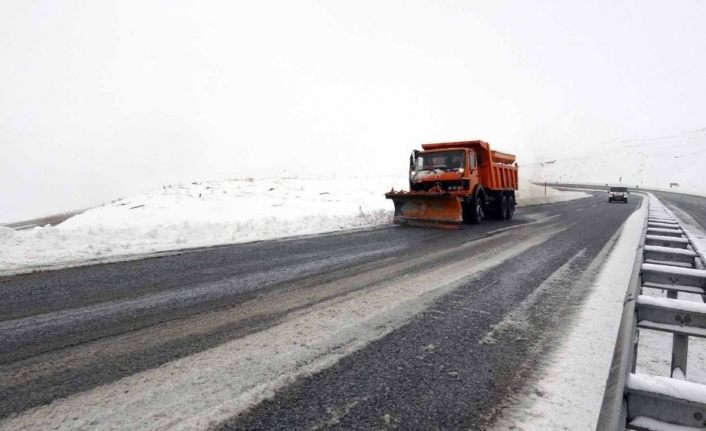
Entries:
<svg viewBox="0 0 706 431">
<path fill-rule="evenodd" d="M 0 2 L 0 221 L 706 127 L 706 2 Z"/>
</svg>

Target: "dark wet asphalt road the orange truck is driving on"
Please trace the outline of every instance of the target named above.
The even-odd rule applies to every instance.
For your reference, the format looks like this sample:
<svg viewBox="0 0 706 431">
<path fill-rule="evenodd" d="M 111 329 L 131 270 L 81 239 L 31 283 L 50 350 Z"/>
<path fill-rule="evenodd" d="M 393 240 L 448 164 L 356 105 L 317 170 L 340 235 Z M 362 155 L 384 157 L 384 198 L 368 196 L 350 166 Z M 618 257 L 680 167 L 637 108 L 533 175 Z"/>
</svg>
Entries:
<svg viewBox="0 0 706 431">
<path fill-rule="evenodd" d="M 312 309 L 333 319 L 325 313 L 354 300 L 357 320 L 317 335 L 345 329 L 349 341 L 312 342 L 318 358 L 345 354 L 284 383 L 245 376 L 254 382 L 249 394 L 276 393 L 265 388 L 238 404 L 246 409 L 210 414 L 209 426 L 483 429 L 560 339 L 601 253 L 639 204 L 604 197 L 521 208 L 511 222 L 460 231 L 389 226 L 0 278 L 0 429 L 116 426 L 115 417 L 139 409 L 105 395 L 101 408 L 110 411 L 96 407 L 80 422 L 92 399 L 81 396 L 103 396 L 110 384 L 197 354 L 206 361 L 218 346 L 277 333 Z M 401 285 L 412 287 L 394 290 Z M 386 289 L 411 299 L 372 325 L 365 307 L 379 306 L 373 298 Z M 293 334 L 293 345 L 311 335 Z M 268 361 L 294 355 L 280 347 L 265 352 Z M 313 363 L 298 359 L 294 368 Z M 238 395 L 228 379 L 242 378 L 220 380 Z M 174 424 L 164 418 L 177 421 L 195 402 L 150 396 L 149 377 L 138 383 L 131 395 L 144 397 L 157 418 L 141 429 Z"/>
</svg>

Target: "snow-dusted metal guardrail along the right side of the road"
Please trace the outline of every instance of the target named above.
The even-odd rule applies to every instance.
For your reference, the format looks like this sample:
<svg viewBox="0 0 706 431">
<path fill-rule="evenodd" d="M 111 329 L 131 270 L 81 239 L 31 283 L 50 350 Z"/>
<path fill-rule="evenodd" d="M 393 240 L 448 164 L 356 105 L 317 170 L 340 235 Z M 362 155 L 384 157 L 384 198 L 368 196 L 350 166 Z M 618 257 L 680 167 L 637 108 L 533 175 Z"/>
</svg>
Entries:
<svg viewBox="0 0 706 431">
<path fill-rule="evenodd" d="M 623 313 L 596 430 L 673 430 L 706 427 L 706 385 L 686 381 L 689 337 L 706 338 L 706 304 L 678 299 L 680 292 L 706 298 L 703 251 L 695 249 L 672 212 L 654 195 L 625 296 Z M 661 289 L 666 297 L 642 295 Z M 669 377 L 636 373 L 639 332 L 671 333 Z M 682 428 L 679 428 L 682 429 Z"/>
</svg>

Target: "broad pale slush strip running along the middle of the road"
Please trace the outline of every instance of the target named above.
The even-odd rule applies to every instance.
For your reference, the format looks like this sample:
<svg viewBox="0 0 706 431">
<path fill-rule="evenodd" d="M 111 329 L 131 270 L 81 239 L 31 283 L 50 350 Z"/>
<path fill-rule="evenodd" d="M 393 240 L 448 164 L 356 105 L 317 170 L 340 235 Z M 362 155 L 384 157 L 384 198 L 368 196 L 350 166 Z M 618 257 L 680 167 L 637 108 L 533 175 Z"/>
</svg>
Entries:
<svg viewBox="0 0 706 431">
<path fill-rule="evenodd" d="M 540 229 L 512 247 L 466 258 L 457 251 L 471 246 L 461 245 L 452 250 L 458 259 L 439 267 L 377 283 L 294 313 L 261 332 L 29 409 L 0 422 L 0 429 L 206 429 L 333 365 L 461 283 L 566 228 Z M 359 281 L 367 281 L 365 273 Z"/>
</svg>

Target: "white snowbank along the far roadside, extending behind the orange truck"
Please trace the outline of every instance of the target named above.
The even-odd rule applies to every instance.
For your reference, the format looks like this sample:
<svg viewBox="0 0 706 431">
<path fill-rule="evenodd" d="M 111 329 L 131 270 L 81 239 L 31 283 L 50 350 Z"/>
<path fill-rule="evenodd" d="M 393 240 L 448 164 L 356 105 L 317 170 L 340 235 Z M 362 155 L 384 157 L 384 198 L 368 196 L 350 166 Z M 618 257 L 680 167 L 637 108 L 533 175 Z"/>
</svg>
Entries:
<svg viewBox="0 0 706 431">
<path fill-rule="evenodd" d="M 0 275 L 130 259 L 145 254 L 342 229 L 392 221 L 384 193 L 402 176 L 267 178 L 195 182 L 123 198 L 58 226 L 0 226 Z M 519 205 L 587 196 L 523 182 Z"/>
</svg>

